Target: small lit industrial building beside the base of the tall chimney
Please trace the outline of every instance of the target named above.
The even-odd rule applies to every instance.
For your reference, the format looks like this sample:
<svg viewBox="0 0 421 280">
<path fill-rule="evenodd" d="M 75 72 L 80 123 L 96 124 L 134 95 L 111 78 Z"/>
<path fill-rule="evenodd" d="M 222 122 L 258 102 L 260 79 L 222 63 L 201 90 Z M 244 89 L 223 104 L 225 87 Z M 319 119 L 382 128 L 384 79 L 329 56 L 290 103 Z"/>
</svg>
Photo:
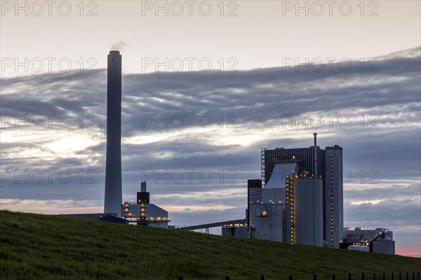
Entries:
<svg viewBox="0 0 421 280">
<path fill-rule="evenodd" d="M 149 203 L 149 193 L 146 191 L 146 181 L 140 183 L 140 192 L 136 203 L 124 202 L 121 205 L 123 216 L 128 223 L 146 225 L 153 228 L 168 228 L 168 212 Z"/>
</svg>

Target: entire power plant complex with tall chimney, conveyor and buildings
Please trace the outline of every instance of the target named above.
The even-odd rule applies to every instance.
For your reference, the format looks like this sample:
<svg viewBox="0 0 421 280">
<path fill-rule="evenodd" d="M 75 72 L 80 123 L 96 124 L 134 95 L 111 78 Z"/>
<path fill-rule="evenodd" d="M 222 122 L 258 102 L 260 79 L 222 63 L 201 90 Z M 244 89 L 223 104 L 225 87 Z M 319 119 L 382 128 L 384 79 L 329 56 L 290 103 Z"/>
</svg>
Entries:
<svg viewBox="0 0 421 280">
<path fill-rule="evenodd" d="M 342 147 L 262 148 L 260 179 L 247 182 L 246 218 L 192 225 L 178 230 L 221 227 L 222 235 L 394 254 L 393 232 L 344 228 Z M 122 202 L 121 55 L 110 51 L 107 71 L 107 159 L 105 214 L 69 215 L 156 228 L 168 226 L 168 212 L 149 203 L 147 182 L 136 202 Z"/>
</svg>

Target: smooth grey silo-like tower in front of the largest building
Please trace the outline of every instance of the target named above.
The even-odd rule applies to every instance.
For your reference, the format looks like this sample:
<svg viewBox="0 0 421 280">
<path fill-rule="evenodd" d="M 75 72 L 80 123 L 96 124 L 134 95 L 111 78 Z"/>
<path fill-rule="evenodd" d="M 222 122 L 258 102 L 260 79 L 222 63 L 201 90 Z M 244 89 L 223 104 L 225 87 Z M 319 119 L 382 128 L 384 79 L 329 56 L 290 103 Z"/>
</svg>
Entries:
<svg viewBox="0 0 421 280">
<path fill-rule="evenodd" d="M 322 180 L 294 180 L 295 244 L 323 246 Z"/>
</svg>

